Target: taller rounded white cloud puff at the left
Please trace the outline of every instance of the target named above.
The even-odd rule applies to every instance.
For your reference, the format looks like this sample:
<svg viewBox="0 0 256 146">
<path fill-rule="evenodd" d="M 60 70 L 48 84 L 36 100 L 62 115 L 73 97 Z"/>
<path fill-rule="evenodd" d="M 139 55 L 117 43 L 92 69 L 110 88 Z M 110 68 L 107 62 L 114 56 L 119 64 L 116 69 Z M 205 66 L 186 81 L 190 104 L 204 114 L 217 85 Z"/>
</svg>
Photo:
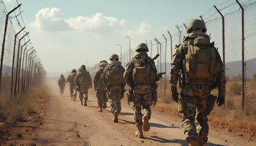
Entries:
<svg viewBox="0 0 256 146">
<path fill-rule="evenodd" d="M 62 18 L 62 12 L 55 7 L 39 10 L 31 26 L 43 31 L 70 30 L 68 23 Z"/>
</svg>

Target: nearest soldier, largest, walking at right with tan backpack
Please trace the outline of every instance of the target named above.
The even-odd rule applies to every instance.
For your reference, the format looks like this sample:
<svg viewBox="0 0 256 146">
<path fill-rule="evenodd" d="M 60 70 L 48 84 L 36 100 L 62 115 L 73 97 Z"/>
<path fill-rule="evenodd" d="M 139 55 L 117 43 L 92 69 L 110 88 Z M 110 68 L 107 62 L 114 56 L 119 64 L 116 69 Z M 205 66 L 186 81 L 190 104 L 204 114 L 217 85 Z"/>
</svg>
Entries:
<svg viewBox="0 0 256 146">
<path fill-rule="evenodd" d="M 170 86 L 172 99 L 179 102 L 184 108 L 182 126 L 189 145 L 202 146 L 208 141 L 208 119 L 211 102 L 210 90 L 218 87 L 216 102 L 221 106 L 225 102 L 226 79 L 223 64 L 214 43 L 210 43 L 209 36 L 205 33 L 206 27 L 200 19 L 192 19 L 188 23 L 187 35 L 183 43 L 176 47 L 172 56 Z M 178 98 L 177 80 L 180 74 L 181 97 Z M 212 107 L 213 108 L 213 107 Z M 195 118 L 196 116 L 196 125 Z"/>
</svg>

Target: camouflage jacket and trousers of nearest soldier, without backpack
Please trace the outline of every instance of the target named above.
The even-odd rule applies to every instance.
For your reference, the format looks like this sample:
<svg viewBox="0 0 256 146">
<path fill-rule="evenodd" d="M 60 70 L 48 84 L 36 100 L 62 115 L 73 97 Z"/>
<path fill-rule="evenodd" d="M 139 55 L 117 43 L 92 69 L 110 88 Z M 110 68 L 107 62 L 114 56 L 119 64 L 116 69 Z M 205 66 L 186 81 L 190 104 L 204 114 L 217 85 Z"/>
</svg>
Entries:
<svg viewBox="0 0 256 146">
<path fill-rule="evenodd" d="M 206 30 L 205 30 L 206 31 Z M 191 45 L 190 42 L 194 42 L 194 39 L 197 36 L 202 38 L 208 38 L 208 35 L 205 32 L 191 32 L 184 37 L 183 43 L 176 47 L 176 53 L 172 55 L 172 67 L 170 71 L 170 86 L 171 88 L 176 88 L 177 81 L 179 78 L 180 72 L 183 69 L 183 60 L 185 60 L 185 55 L 187 53 L 188 46 Z M 214 47 L 214 44 L 210 44 Z M 215 47 L 214 47 L 215 48 Z M 225 74 L 224 69 L 222 68 L 221 57 L 219 56 L 218 50 L 216 51 L 216 63 L 220 64 L 217 69 L 216 80 L 217 87 L 219 90 L 219 96 L 224 96 L 225 94 Z M 182 72 L 183 77 L 185 73 Z M 183 79 L 181 79 L 183 80 Z M 205 79 L 207 80 L 207 79 Z M 188 142 L 196 142 L 204 145 L 208 141 L 208 119 L 207 119 L 207 102 L 208 97 L 210 96 L 210 85 L 211 83 L 184 83 L 182 86 L 181 96 L 187 100 L 185 102 L 185 111 L 183 113 L 182 126 L 184 128 L 184 134 Z M 184 101 L 184 100 L 183 100 Z M 194 122 L 196 116 L 196 123 Z"/>
</svg>

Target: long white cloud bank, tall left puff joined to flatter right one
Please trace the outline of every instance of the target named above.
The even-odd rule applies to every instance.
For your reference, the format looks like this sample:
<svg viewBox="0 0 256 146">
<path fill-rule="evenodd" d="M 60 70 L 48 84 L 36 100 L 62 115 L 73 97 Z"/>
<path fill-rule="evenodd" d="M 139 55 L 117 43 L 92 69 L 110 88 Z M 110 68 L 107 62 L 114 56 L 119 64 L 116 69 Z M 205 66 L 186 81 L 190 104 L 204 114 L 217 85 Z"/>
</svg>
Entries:
<svg viewBox="0 0 256 146">
<path fill-rule="evenodd" d="M 68 31 L 79 30 L 94 34 L 110 33 L 116 29 L 122 29 L 125 20 L 104 16 L 96 13 L 93 16 L 77 16 L 76 18 L 64 19 L 58 8 L 46 8 L 38 11 L 36 19 L 31 26 L 43 31 Z"/>
</svg>

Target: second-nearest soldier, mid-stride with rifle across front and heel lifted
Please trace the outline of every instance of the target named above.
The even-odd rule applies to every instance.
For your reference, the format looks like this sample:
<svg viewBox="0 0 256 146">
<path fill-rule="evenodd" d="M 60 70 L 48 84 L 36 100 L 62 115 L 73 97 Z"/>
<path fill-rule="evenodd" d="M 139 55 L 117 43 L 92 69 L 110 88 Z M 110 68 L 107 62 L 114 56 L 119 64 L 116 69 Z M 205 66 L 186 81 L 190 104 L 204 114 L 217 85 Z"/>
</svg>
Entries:
<svg viewBox="0 0 256 146">
<path fill-rule="evenodd" d="M 133 111 L 135 125 L 138 131 L 135 133 L 137 137 L 143 137 L 143 131 L 149 131 L 149 119 L 151 118 L 152 105 L 152 85 L 158 80 L 157 68 L 154 61 L 148 57 L 148 46 L 144 43 L 138 44 L 135 57 L 133 57 L 124 71 L 124 79 L 127 85 L 132 88 L 134 94 Z M 141 113 L 142 106 L 142 113 Z M 144 125 L 142 122 L 144 120 Z"/>
</svg>

